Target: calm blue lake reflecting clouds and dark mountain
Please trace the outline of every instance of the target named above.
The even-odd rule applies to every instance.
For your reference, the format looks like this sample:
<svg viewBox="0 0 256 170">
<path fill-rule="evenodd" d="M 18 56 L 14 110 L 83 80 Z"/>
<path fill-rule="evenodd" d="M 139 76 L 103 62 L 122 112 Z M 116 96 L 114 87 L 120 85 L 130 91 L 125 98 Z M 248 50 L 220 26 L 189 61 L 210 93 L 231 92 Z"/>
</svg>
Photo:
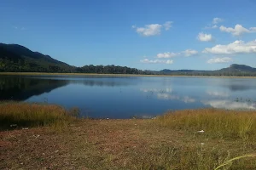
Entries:
<svg viewBox="0 0 256 170">
<path fill-rule="evenodd" d="M 195 108 L 256 110 L 256 78 L 0 76 L 0 100 L 78 107 L 93 118 Z"/>
</svg>

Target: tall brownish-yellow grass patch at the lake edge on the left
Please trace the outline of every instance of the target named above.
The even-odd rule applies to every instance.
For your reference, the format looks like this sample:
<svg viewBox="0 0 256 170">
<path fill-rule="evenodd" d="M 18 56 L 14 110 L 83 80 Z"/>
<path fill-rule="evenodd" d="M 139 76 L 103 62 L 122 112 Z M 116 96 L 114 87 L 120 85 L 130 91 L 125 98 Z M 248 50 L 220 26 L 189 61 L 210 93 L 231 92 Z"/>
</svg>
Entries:
<svg viewBox="0 0 256 170">
<path fill-rule="evenodd" d="M 75 109 L 66 111 L 59 105 L 1 102 L 0 127 L 57 127 L 71 122 L 78 112 Z"/>
</svg>

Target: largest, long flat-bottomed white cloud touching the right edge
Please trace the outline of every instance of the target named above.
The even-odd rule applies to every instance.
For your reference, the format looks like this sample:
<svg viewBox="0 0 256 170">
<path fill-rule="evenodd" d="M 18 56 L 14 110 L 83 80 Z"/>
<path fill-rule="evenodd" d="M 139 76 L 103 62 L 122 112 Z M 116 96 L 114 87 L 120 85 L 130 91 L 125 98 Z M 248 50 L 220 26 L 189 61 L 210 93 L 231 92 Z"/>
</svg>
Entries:
<svg viewBox="0 0 256 170">
<path fill-rule="evenodd" d="M 210 54 L 256 54 L 256 40 L 243 42 L 236 40 L 228 45 L 216 45 L 212 48 L 205 48 L 203 53 Z"/>
</svg>

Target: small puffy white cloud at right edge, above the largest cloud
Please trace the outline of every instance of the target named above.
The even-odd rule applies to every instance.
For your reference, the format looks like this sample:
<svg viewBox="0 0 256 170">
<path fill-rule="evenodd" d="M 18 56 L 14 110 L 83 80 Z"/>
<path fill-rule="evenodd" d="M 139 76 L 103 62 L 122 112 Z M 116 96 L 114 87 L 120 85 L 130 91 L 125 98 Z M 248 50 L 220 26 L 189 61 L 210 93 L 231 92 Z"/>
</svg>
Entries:
<svg viewBox="0 0 256 170">
<path fill-rule="evenodd" d="M 233 36 L 241 36 L 244 33 L 253 33 L 256 32 L 256 27 L 251 27 L 249 29 L 237 24 L 235 28 L 231 27 L 225 27 L 225 26 L 220 26 L 219 27 L 220 31 L 228 32 L 231 33 Z"/>
</svg>

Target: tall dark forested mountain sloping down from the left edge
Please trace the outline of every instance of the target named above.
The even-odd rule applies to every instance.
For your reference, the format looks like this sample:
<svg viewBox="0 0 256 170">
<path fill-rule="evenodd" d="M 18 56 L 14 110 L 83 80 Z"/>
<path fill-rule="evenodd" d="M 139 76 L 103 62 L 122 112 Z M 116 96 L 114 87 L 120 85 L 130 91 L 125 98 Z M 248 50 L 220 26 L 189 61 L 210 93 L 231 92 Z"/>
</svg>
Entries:
<svg viewBox="0 0 256 170">
<path fill-rule="evenodd" d="M 0 43 L 0 71 L 73 72 L 74 67 L 18 44 Z"/>
</svg>

